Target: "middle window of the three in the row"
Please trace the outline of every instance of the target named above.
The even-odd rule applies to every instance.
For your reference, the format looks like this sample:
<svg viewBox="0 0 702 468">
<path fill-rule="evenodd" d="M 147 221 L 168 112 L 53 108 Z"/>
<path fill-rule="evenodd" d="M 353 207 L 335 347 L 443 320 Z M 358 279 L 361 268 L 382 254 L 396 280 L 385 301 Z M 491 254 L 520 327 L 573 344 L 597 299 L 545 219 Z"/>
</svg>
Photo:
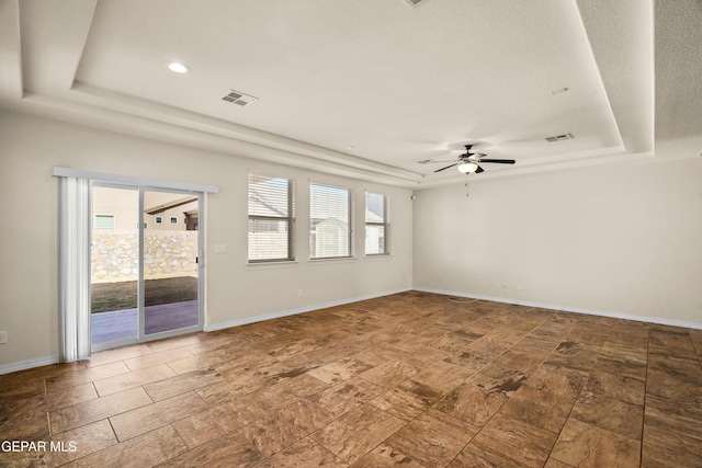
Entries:
<svg viewBox="0 0 702 468">
<path fill-rule="evenodd" d="M 309 184 L 309 258 L 353 256 L 353 197 L 349 189 Z"/>
</svg>

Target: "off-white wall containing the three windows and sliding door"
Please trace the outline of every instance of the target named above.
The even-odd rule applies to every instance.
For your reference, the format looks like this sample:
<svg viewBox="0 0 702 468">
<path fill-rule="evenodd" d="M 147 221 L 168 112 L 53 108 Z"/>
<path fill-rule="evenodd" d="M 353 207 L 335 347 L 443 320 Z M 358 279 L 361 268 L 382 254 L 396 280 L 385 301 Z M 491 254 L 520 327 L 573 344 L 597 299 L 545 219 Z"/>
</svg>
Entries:
<svg viewBox="0 0 702 468">
<path fill-rule="evenodd" d="M 206 199 L 208 328 L 411 287 L 412 213 L 408 190 L 0 111 L 4 219 L 0 330 L 9 333 L 8 344 L 0 345 L 0 366 L 5 369 L 44 363 L 58 351 L 57 182 L 49 175 L 52 165 L 219 186 L 219 193 Z M 299 260 L 294 265 L 247 265 L 249 170 L 297 180 Z M 387 194 L 392 255 L 364 259 L 363 226 L 359 225 L 355 260 L 306 260 L 309 178 L 353 189 L 356 220 L 364 219 L 364 190 Z M 226 244 L 228 253 L 214 254 L 215 244 Z"/>
</svg>

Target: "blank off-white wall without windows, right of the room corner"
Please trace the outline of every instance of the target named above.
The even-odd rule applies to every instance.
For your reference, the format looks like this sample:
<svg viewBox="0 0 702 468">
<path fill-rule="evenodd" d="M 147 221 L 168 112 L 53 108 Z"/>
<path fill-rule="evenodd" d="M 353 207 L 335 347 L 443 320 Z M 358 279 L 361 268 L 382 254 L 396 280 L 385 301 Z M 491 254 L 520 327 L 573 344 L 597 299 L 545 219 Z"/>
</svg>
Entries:
<svg viewBox="0 0 702 468">
<path fill-rule="evenodd" d="M 702 158 L 673 156 L 417 192 L 414 286 L 702 328 Z"/>
</svg>

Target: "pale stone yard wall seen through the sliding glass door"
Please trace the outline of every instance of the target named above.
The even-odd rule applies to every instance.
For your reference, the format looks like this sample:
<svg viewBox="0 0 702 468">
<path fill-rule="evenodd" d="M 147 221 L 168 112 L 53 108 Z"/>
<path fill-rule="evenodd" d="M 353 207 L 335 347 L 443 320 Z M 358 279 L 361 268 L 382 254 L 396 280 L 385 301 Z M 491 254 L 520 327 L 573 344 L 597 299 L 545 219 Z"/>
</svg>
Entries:
<svg viewBox="0 0 702 468">
<path fill-rule="evenodd" d="M 144 276 L 196 274 L 197 231 L 146 231 Z M 138 277 L 138 236 L 132 231 L 94 230 L 91 250 L 93 283 Z"/>
</svg>

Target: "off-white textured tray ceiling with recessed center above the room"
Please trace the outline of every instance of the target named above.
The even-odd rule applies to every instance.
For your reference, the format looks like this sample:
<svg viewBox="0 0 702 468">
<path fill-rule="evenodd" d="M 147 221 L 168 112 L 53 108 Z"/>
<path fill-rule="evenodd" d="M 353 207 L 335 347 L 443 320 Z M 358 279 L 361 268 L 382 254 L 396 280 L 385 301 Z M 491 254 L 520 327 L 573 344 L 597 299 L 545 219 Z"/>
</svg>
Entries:
<svg viewBox="0 0 702 468">
<path fill-rule="evenodd" d="M 654 121 L 699 132 L 676 81 L 700 76 L 700 2 L 659 3 L 656 96 L 683 127 L 654 118 L 645 0 L 0 0 L 0 105 L 410 187 L 462 181 L 418 161 L 465 144 L 518 161 L 472 178 L 608 163 L 649 157 Z"/>
</svg>

